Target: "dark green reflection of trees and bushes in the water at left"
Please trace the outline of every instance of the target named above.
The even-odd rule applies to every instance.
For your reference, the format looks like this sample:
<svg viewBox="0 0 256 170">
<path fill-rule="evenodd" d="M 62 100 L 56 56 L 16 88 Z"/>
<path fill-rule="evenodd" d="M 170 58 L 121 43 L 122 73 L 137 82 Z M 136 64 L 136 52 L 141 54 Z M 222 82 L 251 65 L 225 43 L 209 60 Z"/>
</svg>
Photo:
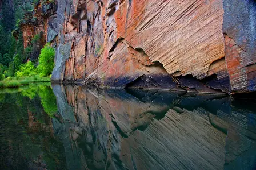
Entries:
<svg viewBox="0 0 256 170">
<path fill-rule="evenodd" d="M 49 86 L 36 85 L 0 93 L 0 169 L 65 169 L 63 145 L 42 107 L 54 108 L 53 95 Z"/>
</svg>

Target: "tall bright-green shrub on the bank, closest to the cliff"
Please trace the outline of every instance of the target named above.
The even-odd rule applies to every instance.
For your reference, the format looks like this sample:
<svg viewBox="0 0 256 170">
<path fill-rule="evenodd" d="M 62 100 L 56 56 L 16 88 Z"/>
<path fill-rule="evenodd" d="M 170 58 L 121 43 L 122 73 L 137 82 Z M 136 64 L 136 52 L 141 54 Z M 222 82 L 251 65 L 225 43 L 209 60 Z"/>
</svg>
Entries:
<svg viewBox="0 0 256 170">
<path fill-rule="evenodd" d="M 47 43 L 39 55 L 38 71 L 41 77 L 49 76 L 54 68 L 55 50 Z"/>
</svg>

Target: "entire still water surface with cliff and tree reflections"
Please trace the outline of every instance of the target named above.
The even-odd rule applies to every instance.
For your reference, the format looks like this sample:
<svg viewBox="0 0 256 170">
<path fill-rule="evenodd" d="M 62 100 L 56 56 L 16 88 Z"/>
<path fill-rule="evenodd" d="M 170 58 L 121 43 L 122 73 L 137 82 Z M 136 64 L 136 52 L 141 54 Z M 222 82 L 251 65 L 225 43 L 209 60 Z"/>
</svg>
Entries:
<svg viewBox="0 0 256 170">
<path fill-rule="evenodd" d="M 0 90 L 1 169 L 255 169 L 256 102 L 37 84 Z"/>
</svg>

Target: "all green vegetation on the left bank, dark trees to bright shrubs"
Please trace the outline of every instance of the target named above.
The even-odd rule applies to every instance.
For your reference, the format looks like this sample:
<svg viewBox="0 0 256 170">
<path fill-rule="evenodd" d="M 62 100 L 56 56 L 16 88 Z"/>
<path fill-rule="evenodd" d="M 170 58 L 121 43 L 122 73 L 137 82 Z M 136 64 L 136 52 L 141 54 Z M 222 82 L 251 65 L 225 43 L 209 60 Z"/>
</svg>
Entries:
<svg viewBox="0 0 256 170">
<path fill-rule="evenodd" d="M 13 6 L 3 0 L 0 11 L 0 88 L 13 88 L 34 82 L 49 82 L 54 67 L 54 48 L 45 44 L 43 32 L 23 40 L 22 23 L 34 4 L 29 0 L 14 0 Z M 26 48 L 24 48 L 26 47 Z"/>
</svg>

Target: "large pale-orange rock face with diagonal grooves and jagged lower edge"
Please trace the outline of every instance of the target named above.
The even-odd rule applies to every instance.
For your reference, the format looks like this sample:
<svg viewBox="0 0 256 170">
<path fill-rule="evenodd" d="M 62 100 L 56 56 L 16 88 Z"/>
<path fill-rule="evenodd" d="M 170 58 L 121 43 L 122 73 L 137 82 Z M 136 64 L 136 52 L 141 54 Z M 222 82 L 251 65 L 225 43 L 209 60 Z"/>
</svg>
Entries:
<svg viewBox="0 0 256 170">
<path fill-rule="evenodd" d="M 117 11 L 117 32 L 169 74 L 199 79 L 224 56 L 222 1 L 125 1 Z M 118 13 L 119 12 L 119 13 Z M 209 17 L 211 15 L 211 17 Z"/>
</svg>

